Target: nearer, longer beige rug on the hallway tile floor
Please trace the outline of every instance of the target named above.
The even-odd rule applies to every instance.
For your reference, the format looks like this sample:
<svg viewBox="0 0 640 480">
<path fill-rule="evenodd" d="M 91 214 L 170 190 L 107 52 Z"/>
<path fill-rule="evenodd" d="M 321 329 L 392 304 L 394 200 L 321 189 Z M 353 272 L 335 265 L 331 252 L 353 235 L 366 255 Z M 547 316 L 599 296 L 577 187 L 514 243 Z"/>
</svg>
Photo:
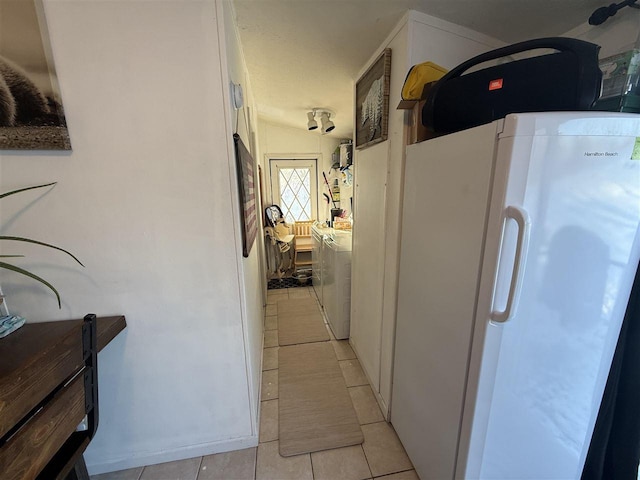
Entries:
<svg viewBox="0 0 640 480">
<path fill-rule="evenodd" d="M 330 342 L 279 350 L 280 455 L 362 443 L 351 396 Z"/>
</svg>

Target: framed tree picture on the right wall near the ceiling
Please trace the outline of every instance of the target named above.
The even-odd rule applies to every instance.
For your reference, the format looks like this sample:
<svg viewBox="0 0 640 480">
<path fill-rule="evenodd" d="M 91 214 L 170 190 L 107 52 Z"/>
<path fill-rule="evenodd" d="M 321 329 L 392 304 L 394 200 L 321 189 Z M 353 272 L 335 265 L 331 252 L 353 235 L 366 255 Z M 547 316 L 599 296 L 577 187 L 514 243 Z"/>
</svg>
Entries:
<svg viewBox="0 0 640 480">
<path fill-rule="evenodd" d="M 356 148 L 387 139 L 390 84 L 391 49 L 386 48 L 356 83 Z"/>
</svg>

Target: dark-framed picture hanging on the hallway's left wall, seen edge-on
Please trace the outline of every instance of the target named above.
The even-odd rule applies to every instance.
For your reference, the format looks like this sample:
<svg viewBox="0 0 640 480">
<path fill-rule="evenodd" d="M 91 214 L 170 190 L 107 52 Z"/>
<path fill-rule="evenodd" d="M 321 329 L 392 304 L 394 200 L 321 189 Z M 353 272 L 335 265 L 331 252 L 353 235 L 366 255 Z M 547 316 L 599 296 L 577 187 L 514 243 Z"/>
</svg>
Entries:
<svg viewBox="0 0 640 480">
<path fill-rule="evenodd" d="M 248 257 L 258 234 L 256 192 L 254 185 L 255 162 L 242 143 L 240 135 L 233 134 L 238 168 L 238 189 L 240 191 L 240 215 L 242 217 L 242 256 Z"/>
</svg>

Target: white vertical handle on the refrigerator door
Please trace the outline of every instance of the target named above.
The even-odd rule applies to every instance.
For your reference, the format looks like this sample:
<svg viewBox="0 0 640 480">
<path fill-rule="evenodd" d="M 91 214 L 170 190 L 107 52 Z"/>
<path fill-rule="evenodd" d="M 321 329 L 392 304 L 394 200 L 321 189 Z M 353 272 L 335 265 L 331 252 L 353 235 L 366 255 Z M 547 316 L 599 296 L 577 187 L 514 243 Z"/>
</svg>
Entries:
<svg viewBox="0 0 640 480">
<path fill-rule="evenodd" d="M 526 210 L 510 205 L 505 210 L 505 224 L 509 218 L 512 218 L 518 224 L 518 238 L 507 305 L 502 312 L 495 310 L 491 312 L 491 320 L 499 323 L 507 322 L 516 313 L 518 300 L 520 299 L 522 277 L 524 276 L 524 265 L 527 261 L 527 252 L 529 250 L 529 233 L 531 230 L 531 220 Z"/>
</svg>

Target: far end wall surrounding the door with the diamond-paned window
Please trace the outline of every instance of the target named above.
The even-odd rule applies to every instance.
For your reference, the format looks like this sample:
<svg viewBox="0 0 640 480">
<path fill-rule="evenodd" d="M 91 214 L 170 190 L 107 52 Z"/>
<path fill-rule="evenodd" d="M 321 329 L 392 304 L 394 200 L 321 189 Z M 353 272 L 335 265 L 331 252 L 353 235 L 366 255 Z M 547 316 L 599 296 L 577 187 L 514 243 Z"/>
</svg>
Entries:
<svg viewBox="0 0 640 480">
<path fill-rule="evenodd" d="M 269 158 L 295 159 L 296 156 L 318 158 L 318 220 L 324 221 L 330 218 L 326 202 L 322 193 L 328 193 L 322 178 L 322 172 L 327 174 L 329 183 L 337 175 L 331 170 L 331 154 L 340 144 L 339 138 L 309 132 L 302 128 L 292 128 L 278 125 L 262 119 L 259 123 L 259 143 L 262 153 L 262 162 L 265 172 L 265 199 L 272 201 L 271 179 L 269 176 Z M 350 192 L 341 192 L 341 208 L 347 208 Z"/>
</svg>

